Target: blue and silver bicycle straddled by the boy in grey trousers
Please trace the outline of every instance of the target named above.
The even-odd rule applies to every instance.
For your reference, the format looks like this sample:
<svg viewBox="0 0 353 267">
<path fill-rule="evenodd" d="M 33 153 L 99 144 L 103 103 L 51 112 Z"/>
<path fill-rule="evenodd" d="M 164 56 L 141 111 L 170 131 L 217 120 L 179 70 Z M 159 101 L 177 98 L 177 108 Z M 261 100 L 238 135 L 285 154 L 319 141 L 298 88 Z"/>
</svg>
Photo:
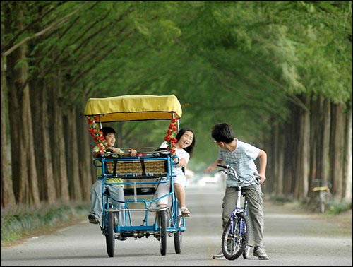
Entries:
<svg viewBox="0 0 353 267">
<path fill-rule="evenodd" d="M 226 259 L 234 260 L 238 259 L 240 255 L 243 255 L 244 259 L 249 257 L 250 247 L 248 245 L 250 238 L 250 220 L 247 215 L 248 204 L 245 198 L 245 192 L 241 190 L 241 184 L 243 183 L 244 177 L 237 174 L 236 170 L 229 165 L 220 165 L 225 170 L 221 170 L 226 174 L 231 174 L 240 183 L 237 188 L 238 196 L 236 206 L 232 211 L 229 221 L 225 225 L 225 229 L 222 234 L 222 252 Z M 249 174 L 246 174 L 249 175 Z M 241 177 L 242 179 L 239 179 Z M 249 175 L 248 180 L 256 180 L 256 184 L 260 184 L 260 177 L 254 173 L 253 176 Z M 246 180 L 246 179 L 245 179 Z M 241 206 L 241 197 L 244 197 L 244 206 Z"/>
</svg>

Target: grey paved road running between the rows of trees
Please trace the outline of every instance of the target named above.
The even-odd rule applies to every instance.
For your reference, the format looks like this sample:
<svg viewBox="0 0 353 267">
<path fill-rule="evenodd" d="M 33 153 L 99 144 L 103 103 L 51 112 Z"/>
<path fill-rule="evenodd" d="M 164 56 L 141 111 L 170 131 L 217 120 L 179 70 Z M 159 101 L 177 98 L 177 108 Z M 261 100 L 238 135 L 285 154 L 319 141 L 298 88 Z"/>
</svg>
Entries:
<svg viewBox="0 0 353 267">
<path fill-rule="evenodd" d="M 213 260 L 220 251 L 222 189 L 187 188 L 191 218 L 187 218 L 181 254 L 168 238 L 161 256 L 154 237 L 116 241 L 109 258 L 105 238 L 88 220 L 52 235 L 1 247 L 1 266 L 352 266 L 352 213 L 343 226 L 321 215 L 305 215 L 265 202 L 265 249 L 269 261 Z M 347 226 L 348 224 L 348 226 Z"/>
</svg>

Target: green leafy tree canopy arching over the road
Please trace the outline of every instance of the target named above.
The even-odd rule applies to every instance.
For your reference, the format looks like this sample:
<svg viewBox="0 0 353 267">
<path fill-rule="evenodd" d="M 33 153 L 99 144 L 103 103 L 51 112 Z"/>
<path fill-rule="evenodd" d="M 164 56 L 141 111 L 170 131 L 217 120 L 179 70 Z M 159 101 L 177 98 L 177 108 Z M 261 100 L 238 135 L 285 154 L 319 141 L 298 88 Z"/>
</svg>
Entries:
<svg viewBox="0 0 353 267">
<path fill-rule="evenodd" d="M 215 160 L 217 122 L 258 142 L 297 95 L 352 102 L 352 1 L 1 1 L 3 28 L 1 52 L 31 38 L 18 62 L 30 78 L 62 77 L 62 105 L 177 95 L 198 138 L 191 166 Z M 141 125 L 124 125 L 126 143 L 162 141 L 165 129 Z"/>
</svg>

